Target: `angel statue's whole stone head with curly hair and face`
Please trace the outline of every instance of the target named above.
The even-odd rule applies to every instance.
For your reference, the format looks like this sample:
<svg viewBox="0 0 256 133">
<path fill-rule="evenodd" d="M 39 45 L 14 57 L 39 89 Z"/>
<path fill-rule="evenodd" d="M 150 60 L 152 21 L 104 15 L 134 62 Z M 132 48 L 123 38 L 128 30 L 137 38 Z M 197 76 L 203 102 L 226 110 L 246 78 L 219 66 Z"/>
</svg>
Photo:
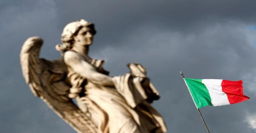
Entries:
<svg viewBox="0 0 256 133">
<path fill-rule="evenodd" d="M 70 50 L 74 44 L 90 45 L 93 43 L 93 36 L 96 34 L 94 24 L 84 19 L 71 22 L 64 27 L 61 34 L 63 45 L 56 45 L 56 49 L 61 52 Z"/>
</svg>

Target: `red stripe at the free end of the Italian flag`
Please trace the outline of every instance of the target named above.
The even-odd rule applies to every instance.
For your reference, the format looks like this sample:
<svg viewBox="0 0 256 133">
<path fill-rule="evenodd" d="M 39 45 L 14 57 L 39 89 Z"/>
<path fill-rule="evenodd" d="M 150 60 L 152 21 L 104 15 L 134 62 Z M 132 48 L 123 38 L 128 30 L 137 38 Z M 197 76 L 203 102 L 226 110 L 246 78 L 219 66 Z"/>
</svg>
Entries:
<svg viewBox="0 0 256 133">
<path fill-rule="evenodd" d="M 223 80 L 221 82 L 222 91 L 227 94 L 227 99 L 229 103 L 238 103 L 249 99 L 246 95 L 243 94 L 243 81 L 227 81 Z"/>
</svg>

